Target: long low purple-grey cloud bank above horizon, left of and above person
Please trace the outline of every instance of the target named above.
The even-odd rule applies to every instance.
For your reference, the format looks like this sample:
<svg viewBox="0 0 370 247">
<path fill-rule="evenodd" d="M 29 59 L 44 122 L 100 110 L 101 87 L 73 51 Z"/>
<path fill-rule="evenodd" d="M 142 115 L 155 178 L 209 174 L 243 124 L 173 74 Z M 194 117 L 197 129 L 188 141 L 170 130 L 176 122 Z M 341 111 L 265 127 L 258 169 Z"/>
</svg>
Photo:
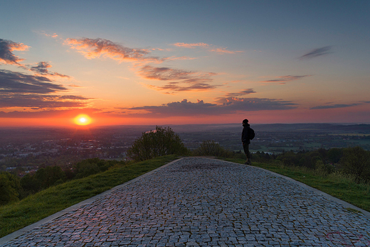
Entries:
<svg viewBox="0 0 370 247">
<path fill-rule="evenodd" d="M 171 102 L 163 104 L 162 106 L 133 107 L 129 110 L 146 111 L 144 114 L 136 114 L 140 116 L 165 117 L 199 115 L 219 116 L 247 111 L 286 110 L 296 108 L 296 104 L 290 101 L 282 101 L 278 99 L 218 98 L 218 103 L 219 104 L 204 103 L 203 100 L 198 100 L 196 103 L 192 103 L 191 101 L 184 99 L 180 102 Z"/>
</svg>

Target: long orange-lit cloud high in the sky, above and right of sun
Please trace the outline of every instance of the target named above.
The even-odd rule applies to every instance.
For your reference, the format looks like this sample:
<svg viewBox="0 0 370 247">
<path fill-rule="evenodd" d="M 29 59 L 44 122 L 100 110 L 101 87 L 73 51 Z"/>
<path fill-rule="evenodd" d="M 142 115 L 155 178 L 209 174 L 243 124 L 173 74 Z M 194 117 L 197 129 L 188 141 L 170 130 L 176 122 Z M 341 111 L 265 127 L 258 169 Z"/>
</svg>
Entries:
<svg viewBox="0 0 370 247">
<path fill-rule="evenodd" d="M 162 62 L 165 60 L 161 60 L 159 57 L 147 57 L 149 50 L 127 48 L 102 38 L 68 38 L 64 43 L 70 45 L 70 48 L 78 50 L 79 53 L 82 53 L 88 59 L 109 57 L 120 62 Z"/>
</svg>

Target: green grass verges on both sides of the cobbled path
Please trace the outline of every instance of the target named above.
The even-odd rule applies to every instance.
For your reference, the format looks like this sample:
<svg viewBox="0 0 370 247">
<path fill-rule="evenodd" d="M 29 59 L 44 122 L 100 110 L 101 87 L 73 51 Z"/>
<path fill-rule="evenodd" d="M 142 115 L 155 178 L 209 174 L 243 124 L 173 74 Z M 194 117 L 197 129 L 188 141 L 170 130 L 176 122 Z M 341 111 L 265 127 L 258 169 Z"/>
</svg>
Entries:
<svg viewBox="0 0 370 247">
<path fill-rule="evenodd" d="M 175 155 L 168 155 L 113 168 L 97 175 L 50 187 L 20 202 L 0 207 L 0 237 L 11 234 L 13 231 L 33 224 L 46 216 L 82 202 L 96 194 L 105 192 L 116 185 L 121 185 L 175 159 Z M 245 162 L 245 160 L 237 158 L 226 158 L 225 160 L 235 163 Z M 281 168 L 279 165 L 263 163 L 253 163 L 253 165 L 292 177 L 306 185 L 370 211 L 370 185 L 356 185 L 344 177 L 322 177 L 302 168 Z"/>
</svg>

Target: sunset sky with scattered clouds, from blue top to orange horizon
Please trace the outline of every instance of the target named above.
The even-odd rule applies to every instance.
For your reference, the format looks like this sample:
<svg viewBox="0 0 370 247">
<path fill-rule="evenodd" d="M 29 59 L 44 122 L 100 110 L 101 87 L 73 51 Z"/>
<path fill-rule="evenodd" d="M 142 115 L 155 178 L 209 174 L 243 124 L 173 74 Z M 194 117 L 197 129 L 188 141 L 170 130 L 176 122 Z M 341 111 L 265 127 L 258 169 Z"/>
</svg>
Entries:
<svg viewBox="0 0 370 247">
<path fill-rule="evenodd" d="M 370 124 L 369 11 L 366 0 L 4 0 L 0 126 L 73 126 L 79 114 L 95 126 Z"/>
</svg>

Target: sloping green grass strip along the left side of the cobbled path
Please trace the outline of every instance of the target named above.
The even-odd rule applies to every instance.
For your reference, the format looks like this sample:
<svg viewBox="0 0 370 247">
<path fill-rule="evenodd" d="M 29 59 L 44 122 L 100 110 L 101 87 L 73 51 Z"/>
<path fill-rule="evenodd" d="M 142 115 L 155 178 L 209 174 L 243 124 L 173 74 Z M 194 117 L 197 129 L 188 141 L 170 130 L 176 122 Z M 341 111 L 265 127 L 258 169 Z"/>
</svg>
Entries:
<svg viewBox="0 0 370 247">
<path fill-rule="evenodd" d="M 166 155 L 152 160 L 114 167 L 97 175 L 50 187 L 19 202 L 2 206 L 0 207 L 0 238 L 159 168 L 176 160 L 176 158 L 176 155 Z"/>
</svg>

